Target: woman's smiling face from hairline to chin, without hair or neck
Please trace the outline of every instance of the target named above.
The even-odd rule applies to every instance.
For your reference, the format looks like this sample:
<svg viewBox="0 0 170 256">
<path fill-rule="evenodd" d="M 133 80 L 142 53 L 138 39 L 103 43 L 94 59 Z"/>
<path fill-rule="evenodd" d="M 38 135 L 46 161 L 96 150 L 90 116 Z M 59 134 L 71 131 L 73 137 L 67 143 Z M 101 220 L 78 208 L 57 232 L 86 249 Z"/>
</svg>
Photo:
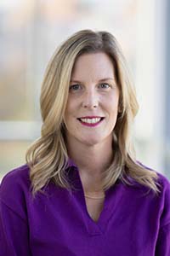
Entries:
<svg viewBox="0 0 170 256">
<path fill-rule="evenodd" d="M 93 146 L 112 141 L 118 100 L 110 57 L 102 52 L 79 56 L 71 74 L 65 110 L 67 141 L 73 146 L 77 142 Z"/>
</svg>

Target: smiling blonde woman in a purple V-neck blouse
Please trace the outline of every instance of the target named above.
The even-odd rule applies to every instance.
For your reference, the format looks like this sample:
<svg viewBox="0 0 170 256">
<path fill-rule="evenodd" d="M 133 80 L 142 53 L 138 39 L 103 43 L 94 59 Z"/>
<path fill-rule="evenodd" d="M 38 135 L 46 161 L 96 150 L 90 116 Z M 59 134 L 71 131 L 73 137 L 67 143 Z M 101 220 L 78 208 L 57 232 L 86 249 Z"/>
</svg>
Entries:
<svg viewBox="0 0 170 256">
<path fill-rule="evenodd" d="M 41 111 L 42 136 L 1 184 L 0 255 L 170 255 L 170 184 L 135 158 L 138 103 L 111 33 L 60 45 Z"/>
</svg>

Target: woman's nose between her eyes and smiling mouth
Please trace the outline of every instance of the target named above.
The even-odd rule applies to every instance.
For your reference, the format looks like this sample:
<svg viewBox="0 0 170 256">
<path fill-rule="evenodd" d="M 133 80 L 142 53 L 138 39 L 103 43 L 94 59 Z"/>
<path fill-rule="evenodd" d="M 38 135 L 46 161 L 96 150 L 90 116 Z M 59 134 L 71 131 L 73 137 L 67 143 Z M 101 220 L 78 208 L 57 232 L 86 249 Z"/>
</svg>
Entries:
<svg viewBox="0 0 170 256">
<path fill-rule="evenodd" d="M 99 105 L 99 96 L 95 90 L 88 90 L 82 97 L 82 108 L 97 108 Z"/>
</svg>

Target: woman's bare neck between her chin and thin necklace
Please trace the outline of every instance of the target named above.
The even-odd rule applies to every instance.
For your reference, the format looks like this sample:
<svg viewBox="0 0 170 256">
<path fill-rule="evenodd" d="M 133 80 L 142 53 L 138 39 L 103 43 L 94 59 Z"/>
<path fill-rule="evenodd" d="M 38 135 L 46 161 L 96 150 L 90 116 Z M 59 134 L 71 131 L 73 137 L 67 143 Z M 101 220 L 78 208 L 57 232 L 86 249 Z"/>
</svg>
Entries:
<svg viewBox="0 0 170 256">
<path fill-rule="evenodd" d="M 111 165 L 113 157 L 112 142 L 85 145 L 67 142 L 68 153 L 79 169 L 86 191 L 101 190 L 102 173 Z"/>
</svg>

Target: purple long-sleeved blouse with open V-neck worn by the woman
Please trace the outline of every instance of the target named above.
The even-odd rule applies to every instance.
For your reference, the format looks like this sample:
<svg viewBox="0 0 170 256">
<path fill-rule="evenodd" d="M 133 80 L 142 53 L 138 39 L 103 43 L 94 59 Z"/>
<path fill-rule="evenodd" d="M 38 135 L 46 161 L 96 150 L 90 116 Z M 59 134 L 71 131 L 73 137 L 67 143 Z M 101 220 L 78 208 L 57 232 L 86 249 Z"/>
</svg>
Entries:
<svg viewBox="0 0 170 256">
<path fill-rule="evenodd" d="M 120 180 L 105 193 L 97 222 L 89 216 L 77 166 L 65 172 L 76 189 L 49 183 L 31 196 L 28 166 L 0 186 L 0 256 L 170 256 L 170 183 L 157 173 L 159 196 Z"/>
</svg>

